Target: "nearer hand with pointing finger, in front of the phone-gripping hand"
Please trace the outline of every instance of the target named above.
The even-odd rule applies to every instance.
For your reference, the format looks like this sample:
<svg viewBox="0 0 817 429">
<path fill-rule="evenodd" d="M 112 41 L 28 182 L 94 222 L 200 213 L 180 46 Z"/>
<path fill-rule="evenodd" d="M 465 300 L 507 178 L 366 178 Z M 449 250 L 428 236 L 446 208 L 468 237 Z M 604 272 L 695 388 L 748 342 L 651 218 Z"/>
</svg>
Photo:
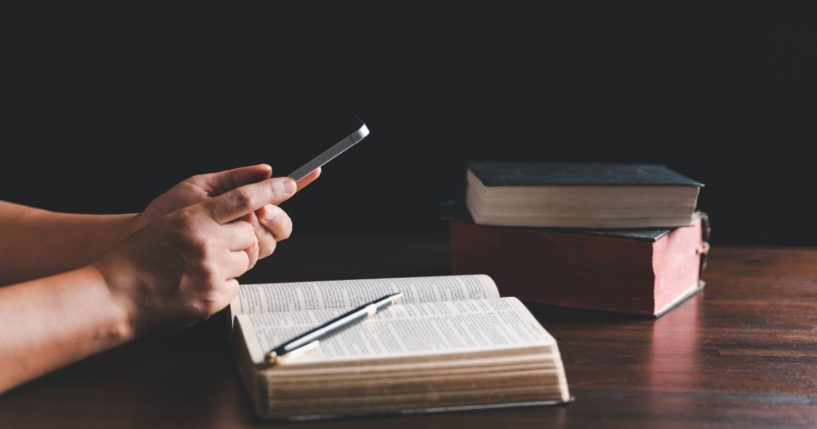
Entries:
<svg viewBox="0 0 817 429">
<path fill-rule="evenodd" d="M 254 262 L 248 249 L 258 246 L 253 226 L 236 219 L 295 191 L 284 177 L 235 188 L 154 220 L 95 263 L 134 334 L 184 327 L 226 307 Z M 283 227 L 288 236 L 292 224 Z"/>
</svg>

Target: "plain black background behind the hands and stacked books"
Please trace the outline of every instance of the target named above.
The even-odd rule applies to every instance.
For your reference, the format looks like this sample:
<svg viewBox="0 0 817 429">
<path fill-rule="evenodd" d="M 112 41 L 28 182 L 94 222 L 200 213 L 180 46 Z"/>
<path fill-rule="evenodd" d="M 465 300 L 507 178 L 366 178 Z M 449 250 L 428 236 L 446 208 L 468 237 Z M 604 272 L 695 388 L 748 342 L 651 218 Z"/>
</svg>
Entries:
<svg viewBox="0 0 817 429">
<path fill-rule="evenodd" d="M 321 106 L 372 135 L 286 203 L 296 235 L 444 235 L 465 161 L 495 159 L 666 164 L 706 183 L 716 243 L 817 244 L 817 20 L 776 3 L 2 20 L 0 199 L 115 213 L 198 172 L 289 173 L 333 143 L 287 126 Z"/>
</svg>

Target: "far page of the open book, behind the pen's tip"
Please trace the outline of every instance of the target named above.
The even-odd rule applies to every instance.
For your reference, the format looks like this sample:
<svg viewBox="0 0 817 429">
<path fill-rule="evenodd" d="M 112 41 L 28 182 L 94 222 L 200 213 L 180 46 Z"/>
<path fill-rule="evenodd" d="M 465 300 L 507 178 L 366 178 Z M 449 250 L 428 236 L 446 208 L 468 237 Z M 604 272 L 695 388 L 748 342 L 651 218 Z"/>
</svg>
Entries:
<svg viewBox="0 0 817 429">
<path fill-rule="evenodd" d="M 394 292 L 406 304 L 499 297 L 486 275 L 405 277 L 241 285 L 230 307 L 233 314 L 352 309 Z"/>
</svg>

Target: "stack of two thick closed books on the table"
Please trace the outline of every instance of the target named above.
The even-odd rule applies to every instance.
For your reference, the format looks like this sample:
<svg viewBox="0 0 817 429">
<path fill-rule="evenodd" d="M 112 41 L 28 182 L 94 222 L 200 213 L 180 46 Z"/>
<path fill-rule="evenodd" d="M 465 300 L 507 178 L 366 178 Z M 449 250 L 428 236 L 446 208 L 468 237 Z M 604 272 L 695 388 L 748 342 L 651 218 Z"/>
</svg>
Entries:
<svg viewBox="0 0 817 429">
<path fill-rule="evenodd" d="M 452 269 L 503 295 L 658 317 L 703 287 L 701 187 L 660 165 L 471 163 Z"/>
</svg>

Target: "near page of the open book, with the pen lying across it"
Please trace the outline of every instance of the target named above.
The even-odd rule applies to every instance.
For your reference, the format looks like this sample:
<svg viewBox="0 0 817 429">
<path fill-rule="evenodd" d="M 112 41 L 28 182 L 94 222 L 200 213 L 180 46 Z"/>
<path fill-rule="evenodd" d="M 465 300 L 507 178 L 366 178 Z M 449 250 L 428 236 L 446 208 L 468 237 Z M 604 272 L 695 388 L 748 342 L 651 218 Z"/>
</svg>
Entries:
<svg viewBox="0 0 817 429">
<path fill-rule="evenodd" d="M 255 313 L 237 317 L 252 359 L 342 311 Z M 555 344 L 516 298 L 396 304 L 321 341 L 298 365 L 345 360 L 432 356 Z"/>
</svg>

